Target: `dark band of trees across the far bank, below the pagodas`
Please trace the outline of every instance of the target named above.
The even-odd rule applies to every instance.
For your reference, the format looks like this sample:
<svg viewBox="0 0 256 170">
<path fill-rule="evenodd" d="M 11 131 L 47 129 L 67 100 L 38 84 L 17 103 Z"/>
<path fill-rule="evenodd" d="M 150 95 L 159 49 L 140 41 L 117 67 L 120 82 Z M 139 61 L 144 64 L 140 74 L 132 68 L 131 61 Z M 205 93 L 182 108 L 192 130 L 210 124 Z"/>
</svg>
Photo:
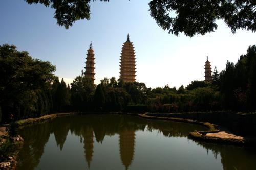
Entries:
<svg viewBox="0 0 256 170">
<path fill-rule="evenodd" d="M 104 78 L 97 86 L 84 75 L 71 85 L 54 75 L 50 62 L 33 59 L 14 45 L 0 46 L 0 118 L 3 121 L 67 111 L 255 111 L 256 46 L 249 46 L 237 64 L 215 68 L 211 84 L 193 81 L 187 87 L 147 88 Z"/>
</svg>

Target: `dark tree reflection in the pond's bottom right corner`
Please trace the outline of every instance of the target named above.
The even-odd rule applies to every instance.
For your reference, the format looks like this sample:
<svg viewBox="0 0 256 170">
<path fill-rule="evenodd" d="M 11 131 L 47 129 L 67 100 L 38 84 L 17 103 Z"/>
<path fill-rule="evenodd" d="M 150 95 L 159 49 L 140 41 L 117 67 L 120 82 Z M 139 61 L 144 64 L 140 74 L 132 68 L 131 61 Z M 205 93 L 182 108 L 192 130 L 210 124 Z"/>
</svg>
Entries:
<svg viewBox="0 0 256 170">
<path fill-rule="evenodd" d="M 198 145 L 205 148 L 207 152 L 212 151 L 215 158 L 221 156 L 223 169 L 254 169 L 255 168 L 255 148 L 235 147 L 228 145 L 218 145 L 196 141 Z"/>
</svg>

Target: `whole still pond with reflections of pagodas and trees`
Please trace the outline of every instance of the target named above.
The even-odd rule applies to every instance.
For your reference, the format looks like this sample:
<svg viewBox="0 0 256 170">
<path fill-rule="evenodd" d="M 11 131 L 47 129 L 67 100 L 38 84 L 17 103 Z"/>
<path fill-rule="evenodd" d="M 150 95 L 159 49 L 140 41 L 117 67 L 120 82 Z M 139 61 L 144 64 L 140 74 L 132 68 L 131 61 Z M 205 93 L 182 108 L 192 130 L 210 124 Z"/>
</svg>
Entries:
<svg viewBox="0 0 256 170">
<path fill-rule="evenodd" d="M 17 169 L 256 169 L 256 152 L 188 139 L 206 128 L 128 115 L 59 117 L 25 127 Z"/>
</svg>

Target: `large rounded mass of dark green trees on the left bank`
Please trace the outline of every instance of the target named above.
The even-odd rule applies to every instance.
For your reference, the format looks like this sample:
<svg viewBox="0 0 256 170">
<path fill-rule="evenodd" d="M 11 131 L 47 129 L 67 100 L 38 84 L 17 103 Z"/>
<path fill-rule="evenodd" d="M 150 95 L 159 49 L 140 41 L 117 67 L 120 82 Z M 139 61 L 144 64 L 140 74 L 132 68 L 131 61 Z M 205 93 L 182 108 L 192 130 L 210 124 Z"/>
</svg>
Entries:
<svg viewBox="0 0 256 170">
<path fill-rule="evenodd" d="M 55 66 L 50 62 L 33 59 L 28 52 L 19 52 L 14 45 L 4 44 L 0 46 L 0 65 L 2 120 L 63 111 L 63 105 L 68 104 L 62 101 L 63 95 L 68 95 L 62 91 L 65 82 L 58 82 L 53 74 Z"/>
</svg>

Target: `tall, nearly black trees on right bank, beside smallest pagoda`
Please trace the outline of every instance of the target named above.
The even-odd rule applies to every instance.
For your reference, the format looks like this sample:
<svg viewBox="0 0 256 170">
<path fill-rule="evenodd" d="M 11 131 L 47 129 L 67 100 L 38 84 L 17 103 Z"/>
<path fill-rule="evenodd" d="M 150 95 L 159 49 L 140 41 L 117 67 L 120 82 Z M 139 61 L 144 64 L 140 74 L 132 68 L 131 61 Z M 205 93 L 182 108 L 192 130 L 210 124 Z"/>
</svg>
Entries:
<svg viewBox="0 0 256 170">
<path fill-rule="evenodd" d="M 256 46 L 250 46 L 237 64 L 228 62 L 215 83 L 224 107 L 236 110 L 256 109 Z"/>
</svg>

